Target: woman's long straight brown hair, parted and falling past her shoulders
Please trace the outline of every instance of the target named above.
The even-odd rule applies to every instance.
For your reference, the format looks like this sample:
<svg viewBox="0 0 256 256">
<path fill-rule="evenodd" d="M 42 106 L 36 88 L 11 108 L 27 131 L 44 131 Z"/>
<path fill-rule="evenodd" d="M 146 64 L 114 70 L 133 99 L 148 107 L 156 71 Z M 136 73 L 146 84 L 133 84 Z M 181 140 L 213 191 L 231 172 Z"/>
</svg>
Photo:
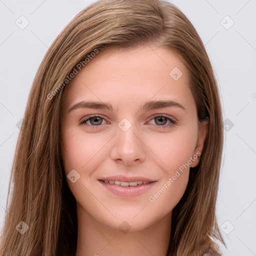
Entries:
<svg viewBox="0 0 256 256">
<path fill-rule="evenodd" d="M 35 75 L 11 169 L 1 256 L 75 255 L 76 202 L 60 154 L 61 97 L 68 86 L 63 81 L 91 52 L 97 50 L 100 54 L 110 47 L 139 45 L 165 46 L 178 52 L 190 74 L 198 120 L 208 121 L 200 161 L 191 169 L 185 193 L 172 211 L 166 255 L 201 255 L 207 246 L 214 245 L 209 237 L 225 245 L 215 217 L 222 114 L 217 84 L 201 39 L 185 15 L 169 2 L 101 0 L 69 22 Z M 20 221 L 29 226 L 23 234 L 16 230 L 17 225 L 24 226 Z"/>
</svg>

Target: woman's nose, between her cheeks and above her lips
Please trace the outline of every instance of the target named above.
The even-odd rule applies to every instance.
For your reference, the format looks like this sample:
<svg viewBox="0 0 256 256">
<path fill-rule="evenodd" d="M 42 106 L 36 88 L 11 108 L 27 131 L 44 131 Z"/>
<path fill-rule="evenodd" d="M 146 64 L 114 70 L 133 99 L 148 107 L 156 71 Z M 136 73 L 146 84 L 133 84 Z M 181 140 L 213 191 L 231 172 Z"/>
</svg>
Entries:
<svg viewBox="0 0 256 256">
<path fill-rule="evenodd" d="M 126 131 L 117 127 L 110 157 L 114 161 L 123 162 L 124 165 L 132 165 L 145 160 L 146 145 L 135 125 L 131 125 Z"/>
</svg>

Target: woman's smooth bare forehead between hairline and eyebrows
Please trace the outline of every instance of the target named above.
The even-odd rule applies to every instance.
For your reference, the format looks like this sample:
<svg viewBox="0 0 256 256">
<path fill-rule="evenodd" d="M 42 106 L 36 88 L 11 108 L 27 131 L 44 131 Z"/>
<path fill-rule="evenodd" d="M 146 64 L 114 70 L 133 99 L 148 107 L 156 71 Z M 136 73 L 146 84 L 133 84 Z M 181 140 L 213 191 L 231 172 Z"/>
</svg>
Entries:
<svg viewBox="0 0 256 256">
<path fill-rule="evenodd" d="M 127 107 L 166 98 L 194 103 L 188 71 L 175 51 L 140 46 L 99 52 L 66 85 L 63 100 L 65 105 L 90 99 Z"/>
</svg>

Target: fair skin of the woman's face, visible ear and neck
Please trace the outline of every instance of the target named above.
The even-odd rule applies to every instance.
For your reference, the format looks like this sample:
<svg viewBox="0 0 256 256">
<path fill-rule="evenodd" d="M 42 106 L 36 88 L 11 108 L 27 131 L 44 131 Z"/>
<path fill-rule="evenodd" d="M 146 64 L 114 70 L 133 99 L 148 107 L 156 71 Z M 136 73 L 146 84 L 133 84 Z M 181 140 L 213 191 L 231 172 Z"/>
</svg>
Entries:
<svg viewBox="0 0 256 256">
<path fill-rule="evenodd" d="M 174 67 L 182 71 L 177 80 L 169 75 Z M 67 178 L 77 203 L 76 256 L 166 254 L 171 212 L 185 191 L 189 167 L 173 175 L 182 164 L 198 164 L 207 129 L 197 120 L 188 84 L 188 71 L 174 51 L 140 46 L 98 53 L 66 85 L 62 158 L 66 175 L 73 169 L 80 175 L 75 182 Z M 152 100 L 172 104 L 140 109 Z M 107 102 L 113 109 L 70 109 L 81 101 Z M 136 194 L 134 186 L 102 181 L 118 175 L 153 182 L 138 184 L 147 188 Z"/>
</svg>

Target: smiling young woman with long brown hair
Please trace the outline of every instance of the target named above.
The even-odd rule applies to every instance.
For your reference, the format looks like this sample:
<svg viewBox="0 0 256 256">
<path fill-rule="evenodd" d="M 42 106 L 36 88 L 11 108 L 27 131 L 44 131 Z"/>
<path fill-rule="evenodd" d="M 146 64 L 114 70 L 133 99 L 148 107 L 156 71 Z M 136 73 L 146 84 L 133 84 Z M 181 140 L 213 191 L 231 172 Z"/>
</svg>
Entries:
<svg viewBox="0 0 256 256">
<path fill-rule="evenodd" d="M 34 78 L 0 255 L 219 255 L 221 119 L 207 53 L 180 10 L 90 5 Z"/>
</svg>

